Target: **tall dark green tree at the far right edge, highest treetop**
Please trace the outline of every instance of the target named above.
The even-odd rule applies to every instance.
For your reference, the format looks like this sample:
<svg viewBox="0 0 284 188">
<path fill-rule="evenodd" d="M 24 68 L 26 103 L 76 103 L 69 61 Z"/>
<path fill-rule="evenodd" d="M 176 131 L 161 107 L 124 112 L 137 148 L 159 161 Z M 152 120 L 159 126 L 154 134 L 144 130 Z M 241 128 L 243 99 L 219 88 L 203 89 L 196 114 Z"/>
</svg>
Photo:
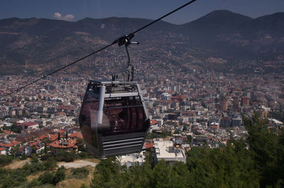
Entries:
<svg viewBox="0 0 284 188">
<path fill-rule="evenodd" d="M 256 113 L 251 119 L 244 117 L 244 124 L 249 133 L 247 141 L 251 157 L 261 175 L 261 187 L 275 187 L 280 179 L 284 179 L 283 170 L 279 168 L 283 167 L 283 134 L 277 136 L 268 131 L 266 121 Z"/>
</svg>

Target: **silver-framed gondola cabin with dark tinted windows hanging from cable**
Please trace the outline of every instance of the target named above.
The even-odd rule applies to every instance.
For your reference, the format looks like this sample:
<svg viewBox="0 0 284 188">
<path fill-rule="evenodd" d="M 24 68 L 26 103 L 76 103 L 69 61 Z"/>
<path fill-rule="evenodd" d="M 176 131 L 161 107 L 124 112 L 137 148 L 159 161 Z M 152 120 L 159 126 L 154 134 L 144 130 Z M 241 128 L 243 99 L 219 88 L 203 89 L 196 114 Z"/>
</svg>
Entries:
<svg viewBox="0 0 284 188">
<path fill-rule="evenodd" d="M 91 80 L 80 111 L 87 150 L 97 157 L 141 152 L 150 120 L 136 82 Z"/>
</svg>

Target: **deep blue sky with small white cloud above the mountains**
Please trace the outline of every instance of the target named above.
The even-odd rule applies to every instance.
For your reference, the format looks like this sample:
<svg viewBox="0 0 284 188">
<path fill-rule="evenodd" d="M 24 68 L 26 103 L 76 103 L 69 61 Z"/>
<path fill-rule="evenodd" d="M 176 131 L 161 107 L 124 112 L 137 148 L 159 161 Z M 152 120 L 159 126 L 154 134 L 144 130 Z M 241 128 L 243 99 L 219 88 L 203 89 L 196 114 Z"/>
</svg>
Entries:
<svg viewBox="0 0 284 188">
<path fill-rule="evenodd" d="M 0 19 L 50 18 L 78 21 L 83 18 L 130 17 L 155 19 L 190 0 L 1 0 Z M 229 10 L 251 18 L 284 12 L 284 0 L 197 0 L 163 19 L 182 24 L 215 10 Z"/>
</svg>

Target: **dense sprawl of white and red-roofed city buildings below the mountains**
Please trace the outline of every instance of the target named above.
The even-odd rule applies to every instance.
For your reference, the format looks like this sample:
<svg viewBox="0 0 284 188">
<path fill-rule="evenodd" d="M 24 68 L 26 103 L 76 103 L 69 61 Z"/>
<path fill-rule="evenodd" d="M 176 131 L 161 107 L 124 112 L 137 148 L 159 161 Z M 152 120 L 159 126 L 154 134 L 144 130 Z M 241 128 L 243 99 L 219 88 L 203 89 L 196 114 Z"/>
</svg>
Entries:
<svg viewBox="0 0 284 188">
<path fill-rule="evenodd" d="M 143 67 L 138 67 L 142 69 Z M 173 69 L 173 67 L 172 67 Z M 272 114 L 283 111 L 283 76 L 262 74 L 226 74 L 204 72 L 192 68 L 190 74 L 171 69 L 153 71 L 141 79 L 143 97 L 151 118 L 151 133 L 159 137 L 163 131 L 192 146 L 218 148 L 230 139 L 246 138 L 242 116 L 257 113 L 268 119 L 269 129 L 277 132 L 283 126 Z M 107 79 L 102 74 L 95 79 Z M 11 75 L 1 77 L 1 95 L 31 82 L 35 77 Z M 1 98 L 1 153 L 10 154 L 20 144 L 23 153 L 31 155 L 32 145 L 43 150 L 48 134 L 50 148 L 56 145 L 58 133 L 77 138 L 80 135 L 77 117 L 84 90 L 91 77 L 76 74 L 49 76 L 20 92 Z M 17 133 L 11 131 L 16 126 Z M 190 136 L 190 137 L 188 137 Z M 187 141 L 187 138 L 191 138 Z M 179 140 L 178 139 L 178 140 Z M 191 143 L 187 144 L 187 143 Z M 70 143 L 70 148 L 77 149 Z"/>
</svg>

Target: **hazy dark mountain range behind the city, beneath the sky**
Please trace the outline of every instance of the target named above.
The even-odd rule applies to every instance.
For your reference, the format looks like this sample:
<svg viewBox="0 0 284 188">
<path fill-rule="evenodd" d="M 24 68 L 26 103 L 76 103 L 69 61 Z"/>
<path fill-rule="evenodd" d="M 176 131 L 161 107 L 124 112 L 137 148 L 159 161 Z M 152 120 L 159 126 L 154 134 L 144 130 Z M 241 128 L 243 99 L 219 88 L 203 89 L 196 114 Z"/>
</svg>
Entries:
<svg viewBox="0 0 284 188">
<path fill-rule="evenodd" d="M 115 17 L 84 18 L 77 22 L 2 19 L 0 69 L 5 71 L 0 74 L 23 73 L 27 66 L 33 67 L 33 72 L 44 72 L 66 65 L 150 22 Z M 178 60 L 179 65 L 196 64 L 227 71 L 244 68 L 244 63 L 250 62 L 249 65 L 272 72 L 284 70 L 284 13 L 250 18 L 226 10 L 213 11 L 182 25 L 158 21 L 138 32 L 133 40 L 141 45 L 132 52 L 145 61 L 153 54 L 159 58 L 170 53 L 169 58 L 175 60 L 169 62 Z M 102 56 L 111 54 L 107 51 Z"/>
</svg>

